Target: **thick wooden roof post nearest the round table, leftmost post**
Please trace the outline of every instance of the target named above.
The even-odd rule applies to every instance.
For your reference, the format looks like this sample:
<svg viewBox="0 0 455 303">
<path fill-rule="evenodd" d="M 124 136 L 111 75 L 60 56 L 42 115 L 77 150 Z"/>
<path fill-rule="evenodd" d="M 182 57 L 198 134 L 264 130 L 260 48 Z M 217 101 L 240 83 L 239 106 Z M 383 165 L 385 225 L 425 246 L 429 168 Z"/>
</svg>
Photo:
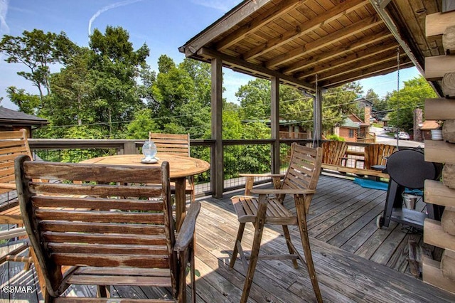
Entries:
<svg viewBox="0 0 455 303">
<path fill-rule="evenodd" d="M 212 59 L 212 153 L 210 179 L 214 198 L 223 197 L 223 65 L 220 58 Z"/>
</svg>

